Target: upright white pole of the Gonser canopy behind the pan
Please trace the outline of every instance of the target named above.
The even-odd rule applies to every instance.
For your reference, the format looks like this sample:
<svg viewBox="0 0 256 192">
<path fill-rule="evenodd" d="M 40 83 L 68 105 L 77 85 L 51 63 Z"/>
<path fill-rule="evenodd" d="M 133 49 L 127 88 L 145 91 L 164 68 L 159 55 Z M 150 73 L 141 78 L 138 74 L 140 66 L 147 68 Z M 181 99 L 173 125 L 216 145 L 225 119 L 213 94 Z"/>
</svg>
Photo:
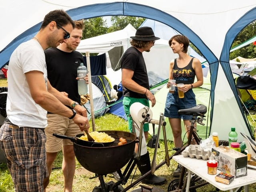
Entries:
<svg viewBox="0 0 256 192">
<path fill-rule="evenodd" d="M 90 65 L 90 52 L 86 52 L 86 63 L 88 71 L 88 82 L 89 82 L 89 95 L 90 95 L 90 108 L 91 108 L 91 119 L 92 119 L 92 131 L 95 130 L 95 118 L 94 118 L 94 106 L 93 106 L 93 95 L 92 95 L 92 74 L 91 74 L 91 65 Z"/>
</svg>

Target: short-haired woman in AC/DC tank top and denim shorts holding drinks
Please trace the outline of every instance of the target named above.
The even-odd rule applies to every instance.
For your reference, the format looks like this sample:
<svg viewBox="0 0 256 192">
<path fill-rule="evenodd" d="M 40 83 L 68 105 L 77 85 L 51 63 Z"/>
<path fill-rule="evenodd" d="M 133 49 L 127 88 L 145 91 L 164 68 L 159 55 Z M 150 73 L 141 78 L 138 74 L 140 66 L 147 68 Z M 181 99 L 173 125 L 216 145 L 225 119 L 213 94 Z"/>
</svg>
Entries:
<svg viewBox="0 0 256 192">
<path fill-rule="evenodd" d="M 179 87 L 180 91 L 184 93 L 184 98 L 179 98 L 177 87 L 174 93 L 168 93 L 164 116 L 169 118 L 174 137 L 174 146 L 180 148 L 182 146 L 181 119 L 183 119 L 186 131 L 188 131 L 188 126 L 190 126 L 189 120 L 192 117 L 189 115 L 178 115 L 178 110 L 196 106 L 195 94 L 192 89 L 203 84 L 203 72 L 200 61 L 187 54 L 189 40 L 186 36 L 173 36 L 169 40 L 169 45 L 173 53 L 178 53 L 179 55 L 178 58 L 170 62 L 169 79 L 175 79 L 176 85 L 178 83 L 184 84 L 182 87 Z M 194 82 L 195 77 L 197 81 Z M 170 83 L 167 83 L 167 88 L 169 87 Z M 178 168 L 173 172 L 173 176 L 180 176 L 181 167 L 181 165 L 178 165 Z"/>
</svg>

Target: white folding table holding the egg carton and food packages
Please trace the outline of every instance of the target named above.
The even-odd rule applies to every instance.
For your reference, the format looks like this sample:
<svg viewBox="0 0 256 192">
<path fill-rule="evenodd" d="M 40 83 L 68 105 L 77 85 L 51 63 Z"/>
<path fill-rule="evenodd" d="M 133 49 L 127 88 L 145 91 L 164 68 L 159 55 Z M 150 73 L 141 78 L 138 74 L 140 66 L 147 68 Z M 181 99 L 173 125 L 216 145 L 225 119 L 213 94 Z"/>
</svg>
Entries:
<svg viewBox="0 0 256 192">
<path fill-rule="evenodd" d="M 236 192 L 236 190 L 238 190 L 239 187 L 244 186 L 244 192 L 248 192 L 249 184 L 256 182 L 256 170 L 252 168 L 247 169 L 247 176 L 235 178 L 228 185 L 228 184 L 216 182 L 214 179 L 216 175 L 208 174 L 206 160 L 184 157 L 183 155 L 173 156 L 172 159 L 188 169 L 188 180 L 186 185 L 186 192 L 189 192 L 191 172 L 198 175 L 200 178 L 206 180 L 207 182 L 209 182 L 210 184 L 212 184 L 213 186 L 215 186 L 216 188 L 222 191 L 229 190 L 230 192 Z M 220 171 L 217 170 L 217 174 L 219 172 Z"/>
</svg>

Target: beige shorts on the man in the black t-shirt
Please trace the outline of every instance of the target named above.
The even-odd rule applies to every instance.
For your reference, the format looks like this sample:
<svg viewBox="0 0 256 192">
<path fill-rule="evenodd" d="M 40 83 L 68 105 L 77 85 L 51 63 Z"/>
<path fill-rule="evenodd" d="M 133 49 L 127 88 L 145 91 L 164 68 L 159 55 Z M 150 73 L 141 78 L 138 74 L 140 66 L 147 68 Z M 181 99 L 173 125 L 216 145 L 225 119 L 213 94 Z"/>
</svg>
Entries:
<svg viewBox="0 0 256 192">
<path fill-rule="evenodd" d="M 72 119 L 62 115 L 47 114 L 48 126 L 45 128 L 46 134 L 46 152 L 58 152 L 62 150 L 62 146 L 73 145 L 70 139 L 60 139 L 53 136 L 53 133 L 59 135 L 66 135 L 68 137 L 75 137 L 82 134 L 78 125 Z"/>
</svg>

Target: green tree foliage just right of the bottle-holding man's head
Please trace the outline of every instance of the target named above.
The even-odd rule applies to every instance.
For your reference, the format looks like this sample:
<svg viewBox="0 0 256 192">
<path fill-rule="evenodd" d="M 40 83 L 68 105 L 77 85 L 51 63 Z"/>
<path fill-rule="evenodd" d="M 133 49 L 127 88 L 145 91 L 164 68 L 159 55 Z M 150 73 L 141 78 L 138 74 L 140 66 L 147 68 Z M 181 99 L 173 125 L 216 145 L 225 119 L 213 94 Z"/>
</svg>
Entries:
<svg viewBox="0 0 256 192">
<path fill-rule="evenodd" d="M 103 17 L 84 20 L 83 38 L 88 39 L 108 33 L 108 26 Z"/>
</svg>

